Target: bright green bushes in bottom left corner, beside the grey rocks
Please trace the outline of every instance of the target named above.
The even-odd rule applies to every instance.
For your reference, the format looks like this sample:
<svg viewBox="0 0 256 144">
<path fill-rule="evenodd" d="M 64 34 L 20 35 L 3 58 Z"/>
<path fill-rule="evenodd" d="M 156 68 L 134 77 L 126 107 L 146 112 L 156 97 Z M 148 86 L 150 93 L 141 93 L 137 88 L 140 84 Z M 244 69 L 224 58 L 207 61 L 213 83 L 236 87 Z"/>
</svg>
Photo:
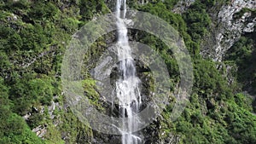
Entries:
<svg viewBox="0 0 256 144">
<path fill-rule="evenodd" d="M 0 78 L 0 143 L 44 143 L 35 135 L 26 122 L 10 109 L 9 88 Z"/>
</svg>

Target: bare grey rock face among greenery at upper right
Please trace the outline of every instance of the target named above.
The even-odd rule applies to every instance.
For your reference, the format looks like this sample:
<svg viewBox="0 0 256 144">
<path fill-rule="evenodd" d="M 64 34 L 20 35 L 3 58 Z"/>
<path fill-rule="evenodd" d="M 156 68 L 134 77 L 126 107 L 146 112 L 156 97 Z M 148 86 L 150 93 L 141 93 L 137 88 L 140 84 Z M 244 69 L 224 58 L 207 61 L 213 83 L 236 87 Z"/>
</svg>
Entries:
<svg viewBox="0 0 256 144">
<path fill-rule="evenodd" d="M 242 9 L 256 9 L 256 1 L 232 0 L 228 5 L 222 6 L 215 15 L 212 14 L 212 21 L 216 21 L 218 25 L 212 26 L 211 34 L 205 37 L 205 43 L 201 45 L 201 55 L 221 61 L 225 52 L 242 33 L 253 32 L 255 15 L 248 11 L 239 16 L 237 13 L 242 13 Z"/>
</svg>

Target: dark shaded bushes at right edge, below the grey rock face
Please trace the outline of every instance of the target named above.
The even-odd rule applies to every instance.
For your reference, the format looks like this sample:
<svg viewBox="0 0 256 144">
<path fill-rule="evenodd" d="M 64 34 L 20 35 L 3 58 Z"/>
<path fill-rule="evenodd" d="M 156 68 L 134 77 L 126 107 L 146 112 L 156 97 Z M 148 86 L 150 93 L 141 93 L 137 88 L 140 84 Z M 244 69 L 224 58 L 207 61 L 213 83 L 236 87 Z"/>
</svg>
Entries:
<svg viewBox="0 0 256 144">
<path fill-rule="evenodd" d="M 255 32 L 242 36 L 226 55 L 226 60 L 238 67 L 237 74 L 234 75 L 241 84 L 241 89 L 253 94 L 256 93 L 255 37 Z"/>
</svg>

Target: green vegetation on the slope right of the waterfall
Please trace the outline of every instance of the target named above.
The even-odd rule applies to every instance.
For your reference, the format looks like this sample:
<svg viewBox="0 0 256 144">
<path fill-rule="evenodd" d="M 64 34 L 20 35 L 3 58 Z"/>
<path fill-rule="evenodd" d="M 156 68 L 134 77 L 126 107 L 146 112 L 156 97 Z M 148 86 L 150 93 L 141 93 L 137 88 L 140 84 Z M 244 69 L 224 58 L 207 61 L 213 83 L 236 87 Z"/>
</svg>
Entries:
<svg viewBox="0 0 256 144">
<path fill-rule="evenodd" d="M 172 9 L 167 8 L 162 2 L 148 3 L 139 7 L 140 10 L 160 16 L 175 27 L 182 35 L 194 60 L 195 82 L 189 106 L 185 108 L 183 116 L 174 123 L 167 120 L 170 118 L 172 107 L 166 107 L 166 111 L 162 114 L 164 117 L 161 122 L 162 129 L 166 133 L 182 135 L 181 143 L 255 143 L 256 117 L 251 113 L 252 99 L 241 93 L 236 94 L 241 91 L 240 85 L 227 83 L 227 79 L 223 77 L 225 71 L 217 68 L 219 63 L 204 60 L 199 55 L 201 39 L 207 35 L 212 23 L 208 8 L 214 4 L 216 4 L 214 1 L 195 1 L 182 16 L 173 14 Z M 252 72 L 255 72 L 253 67 L 256 66 L 252 66 L 252 63 L 255 64 L 252 50 L 255 43 L 252 40 L 255 37 L 253 36 L 241 38 L 241 42 L 234 45 L 235 51 L 233 49 L 234 52 L 228 53 L 240 65 L 237 75 L 234 75 L 238 83 L 241 80 L 246 83 L 254 79 Z M 172 67 L 168 70 L 172 75 L 176 73 L 174 78 L 177 78 L 178 73 L 175 68 L 177 64 L 171 56 L 172 52 L 166 53 L 165 46 L 161 45 L 156 37 L 147 34 L 141 37 L 141 42 L 154 45 L 164 52 L 162 55 L 167 66 Z"/>
</svg>

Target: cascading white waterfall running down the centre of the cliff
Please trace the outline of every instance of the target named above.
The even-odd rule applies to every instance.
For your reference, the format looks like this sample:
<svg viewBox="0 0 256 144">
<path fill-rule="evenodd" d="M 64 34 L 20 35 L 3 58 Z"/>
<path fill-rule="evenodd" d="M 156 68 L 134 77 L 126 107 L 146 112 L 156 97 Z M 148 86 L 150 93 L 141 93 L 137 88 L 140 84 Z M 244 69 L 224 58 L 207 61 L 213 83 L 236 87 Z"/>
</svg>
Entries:
<svg viewBox="0 0 256 144">
<path fill-rule="evenodd" d="M 121 10 L 122 9 L 122 10 Z M 137 129 L 138 120 L 133 115 L 139 111 L 141 94 L 139 89 L 140 79 L 137 78 L 134 60 L 131 57 L 131 48 L 128 43 L 127 28 L 125 26 L 126 0 L 116 2 L 116 25 L 118 34 L 118 59 L 120 78 L 116 82 L 116 95 L 119 100 L 119 111 L 121 117 L 128 117 L 128 122 L 123 122 L 122 134 L 123 144 L 141 143 L 140 137 L 131 132 Z M 125 130 L 124 130 L 125 129 Z"/>
</svg>

